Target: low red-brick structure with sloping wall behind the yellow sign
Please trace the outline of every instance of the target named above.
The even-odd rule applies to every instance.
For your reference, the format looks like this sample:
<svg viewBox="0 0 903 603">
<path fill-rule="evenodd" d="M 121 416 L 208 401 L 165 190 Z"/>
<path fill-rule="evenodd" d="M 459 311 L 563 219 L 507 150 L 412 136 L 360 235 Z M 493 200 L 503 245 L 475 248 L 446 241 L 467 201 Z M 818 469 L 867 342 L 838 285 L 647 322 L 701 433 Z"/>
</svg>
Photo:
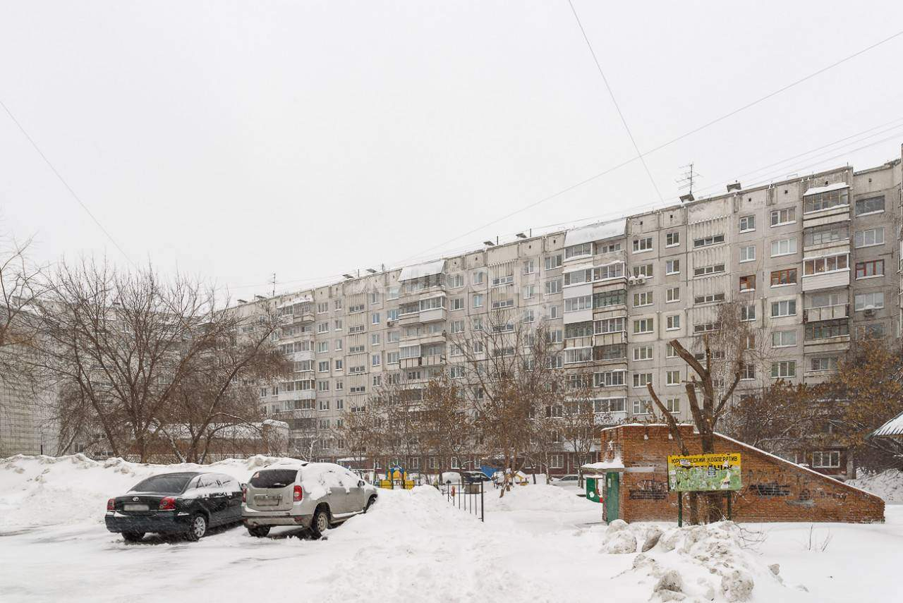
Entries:
<svg viewBox="0 0 903 603">
<path fill-rule="evenodd" d="M 680 429 L 690 453 L 702 454 L 694 427 L 681 425 Z M 601 448 L 602 461 L 608 461 L 614 467 L 612 472 L 619 474 L 618 506 L 615 509 L 606 501 L 606 520 L 614 519 L 608 516 L 614 512 L 628 522 L 676 520 L 677 494 L 667 489 L 666 457 L 680 454 L 680 449 L 666 425 L 610 427 L 602 431 Z M 879 496 L 718 434 L 715 452 L 740 452 L 743 487 L 732 495 L 733 518 L 737 521 L 884 521 L 884 501 Z M 621 464 L 623 468 L 619 468 Z M 686 518 L 688 498 L 684 496 Z"/>
</svg>

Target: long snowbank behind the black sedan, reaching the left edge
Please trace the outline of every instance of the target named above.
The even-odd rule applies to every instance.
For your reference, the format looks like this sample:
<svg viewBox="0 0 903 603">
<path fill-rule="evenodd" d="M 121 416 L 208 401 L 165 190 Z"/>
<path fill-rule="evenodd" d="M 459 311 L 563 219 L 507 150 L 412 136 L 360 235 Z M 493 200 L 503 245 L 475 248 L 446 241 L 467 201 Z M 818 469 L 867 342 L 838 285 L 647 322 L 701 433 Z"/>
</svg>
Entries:
<svg viewBox="0 0 903 603">
<path fill-rule="evenodd" d="M 216 471 L 246 482 L 258 468 L 297 464 L 297 459 L 258 455 L 210 465 L 152 465 L 123 459 L 92 460 L 16 455 L 0 459 L 0 528 L 102 522 L 107 499 L 125 494 L 144 478 L 172 471 Z"/>
</svg>

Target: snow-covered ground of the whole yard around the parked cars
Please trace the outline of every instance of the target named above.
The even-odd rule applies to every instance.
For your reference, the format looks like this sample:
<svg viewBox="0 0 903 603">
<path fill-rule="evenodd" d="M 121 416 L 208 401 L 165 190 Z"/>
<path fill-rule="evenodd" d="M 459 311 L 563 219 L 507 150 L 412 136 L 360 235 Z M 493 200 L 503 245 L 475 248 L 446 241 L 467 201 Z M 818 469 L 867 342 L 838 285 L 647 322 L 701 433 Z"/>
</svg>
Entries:
<svg viewBox="0 0 903 603">
<path fill-rule="evenodd" d="M 246 480 L 275 459 L 228 460 Z M 126 544 L 106 500 L 141 478 L 190 466 L 83 457 L 0 460 L 3 601 L 891 601 L 903 506 L 887 524 L 600 522 L 572 488 L 489 490 L 486 523 L 432 487 L 381 491 L 367 515 L 321 541 L 256 539 L 241 528 L 200 543 Z M 644 543 L 658 542 L 648 552 Z M 779 564 L 777 575 L 769 569 Z M 749 585 L 751 592 L 747 592 Z M 659 590 L 655 590 L 658 588 Z M 680 592 L 674 589 L 680 589 Z M 682 599 L 682 597 L 684 597 Z"/>
</svg>

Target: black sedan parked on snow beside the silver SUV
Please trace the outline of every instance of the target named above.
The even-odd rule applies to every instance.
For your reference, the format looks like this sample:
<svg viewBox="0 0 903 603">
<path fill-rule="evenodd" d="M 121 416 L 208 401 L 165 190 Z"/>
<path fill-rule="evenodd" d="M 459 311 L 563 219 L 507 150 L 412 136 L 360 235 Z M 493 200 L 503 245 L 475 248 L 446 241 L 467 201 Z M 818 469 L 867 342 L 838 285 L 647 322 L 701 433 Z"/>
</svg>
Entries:
<svg viewBox="0 0 903 603">
<path fill-rule="evenodd" d="M 107 530 L 137 542 L 144 533 L 200 539 L 209 527 L 241 522 L 241 485 L 221 473 L 163 473 L 107 501 Z"/>
</svg>

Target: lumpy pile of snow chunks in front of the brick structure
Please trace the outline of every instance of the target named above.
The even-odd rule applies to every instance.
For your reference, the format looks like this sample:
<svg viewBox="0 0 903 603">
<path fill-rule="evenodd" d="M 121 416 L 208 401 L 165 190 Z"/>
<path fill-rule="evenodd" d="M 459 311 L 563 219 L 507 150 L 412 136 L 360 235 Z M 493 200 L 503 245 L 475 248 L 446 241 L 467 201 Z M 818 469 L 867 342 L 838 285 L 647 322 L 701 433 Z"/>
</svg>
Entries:
<svg viewBox="0 0 903 603">
<path fill-rule="evenodd" d="M 647 585 L 653 601 L 748 601 L 757 586 L 769 593 L 783 589 L 777 565 L 767 567 L 745 550 L 733 522 L 663 530 L 617 519 L 608 526 L 600 552 L 640 552 L 615 580 Z M 780 597 L 780 590 L 776 594 Z"/>
</svg>

